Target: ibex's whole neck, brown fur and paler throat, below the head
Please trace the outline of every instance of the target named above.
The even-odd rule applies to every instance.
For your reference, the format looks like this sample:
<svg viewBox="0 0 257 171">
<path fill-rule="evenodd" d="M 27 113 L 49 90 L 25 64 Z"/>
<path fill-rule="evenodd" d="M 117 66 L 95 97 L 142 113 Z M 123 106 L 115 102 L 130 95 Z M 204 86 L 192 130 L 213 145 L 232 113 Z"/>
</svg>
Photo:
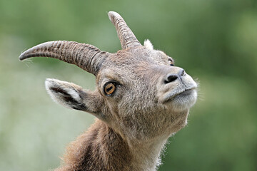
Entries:
<svg viewBox="0 0 257 171">
<path fill-rule="evenodd" d="M 166 138 L 133 143 L 124 140 L 101 120 L 71 142 L 64 165 L 57 170 L 156 170 Z"/>
</svg>

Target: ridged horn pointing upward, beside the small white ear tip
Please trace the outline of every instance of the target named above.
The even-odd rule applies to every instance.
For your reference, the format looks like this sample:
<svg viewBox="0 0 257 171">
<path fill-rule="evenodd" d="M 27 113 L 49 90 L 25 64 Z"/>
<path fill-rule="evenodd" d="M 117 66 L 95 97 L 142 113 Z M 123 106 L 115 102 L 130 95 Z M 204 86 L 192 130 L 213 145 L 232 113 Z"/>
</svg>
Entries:
<svg viewBox="0 0 257 171">
<path fill-rule="evenodd" d="M 133 34 L 129 26 L 127 26 L 124 19 L 122 19 L 122 17 L 118 13 L 114 11 L 109 11 L 108 15 L 109 19 L 116 28 L 122 48 L 141 46 L 141 43 L 136 39 L 136 36 Z"/>
</svg>

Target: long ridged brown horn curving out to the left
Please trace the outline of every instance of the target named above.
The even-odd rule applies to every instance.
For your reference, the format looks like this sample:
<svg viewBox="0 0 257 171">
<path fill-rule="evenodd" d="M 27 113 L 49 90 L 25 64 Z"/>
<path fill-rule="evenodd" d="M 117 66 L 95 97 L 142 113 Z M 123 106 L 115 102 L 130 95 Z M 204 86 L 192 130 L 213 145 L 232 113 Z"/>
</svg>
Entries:
<svg viewBox="0 0 257 171">
<path fill-rule="evenodd" d="M 21 53 L 19 60 L 31 57 L 50 57 L 74 64 L 95 76 L 108 52 L 95 46 L 75 41 L 49 41 Z"/>
</svg>

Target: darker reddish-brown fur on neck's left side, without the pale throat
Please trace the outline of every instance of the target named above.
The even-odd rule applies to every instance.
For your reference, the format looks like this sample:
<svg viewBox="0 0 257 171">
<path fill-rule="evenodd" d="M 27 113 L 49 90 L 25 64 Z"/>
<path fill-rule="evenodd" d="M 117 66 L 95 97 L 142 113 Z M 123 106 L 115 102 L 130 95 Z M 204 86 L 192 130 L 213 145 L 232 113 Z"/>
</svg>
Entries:
<svg viewBox="0 0 257 171">
<path fill-rule="evenodd" d="M 71 142 L 57 170 L 131 170 L 129 145 L 106 123 L 96 123 Z"/>
</svg>

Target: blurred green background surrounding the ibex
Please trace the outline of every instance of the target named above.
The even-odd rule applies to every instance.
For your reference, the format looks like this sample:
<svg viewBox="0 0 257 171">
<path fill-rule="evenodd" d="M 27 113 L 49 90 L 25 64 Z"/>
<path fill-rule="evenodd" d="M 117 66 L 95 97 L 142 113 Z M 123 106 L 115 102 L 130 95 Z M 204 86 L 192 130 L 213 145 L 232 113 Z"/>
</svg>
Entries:
<svg viewBox="0 0 257 171">
<path fill-rule="evenodd" d="M 108 11 L 124 17 L 141 43 L 176 60 L 201 88 L 188 126 L 170 138 L 159 170 L 257 170 L 257 1 L 0 0 L 0 170 L 49 170 L 94 122 L 56 105 L 46 78 L 94 90 L 94 76 L 19 54 L 53 40 L 121 46 Z"/>
</svg>

